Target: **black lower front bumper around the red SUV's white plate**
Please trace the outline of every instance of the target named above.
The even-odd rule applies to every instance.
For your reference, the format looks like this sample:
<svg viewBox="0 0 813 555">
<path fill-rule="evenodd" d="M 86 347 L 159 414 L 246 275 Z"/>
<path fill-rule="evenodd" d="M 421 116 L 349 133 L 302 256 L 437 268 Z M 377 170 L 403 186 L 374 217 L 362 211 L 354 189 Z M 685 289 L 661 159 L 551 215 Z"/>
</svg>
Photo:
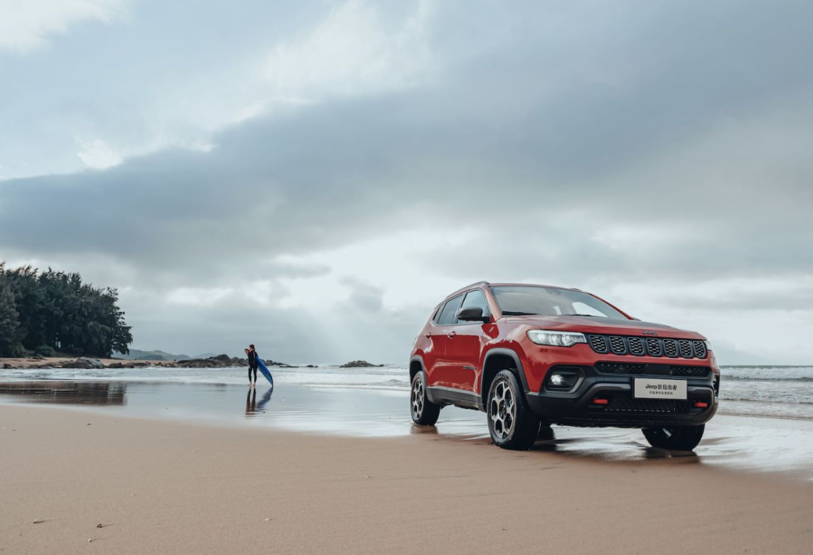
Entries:
<svg viewBox="0 0 813 555">
<path fill-rule="evenodd" d="M 526 398 L 537 417 L 565 426 L 697 426 L 715 415 L 719 375 L 711 368 L 706 376 L 685 377 L 664 375 L 657 366 L 661 365 L 647 365 L 637 375 L 607 374 L 594 366 L 577 366 L 581 379 L 573 391 L 551 391 L 543 385 L 539 392 L 526 392 Z M 567 368 L 574 369 L 574 366 L 567 365 Z M 550 369 L 554 370 L 555 366 Z M 685 379 L 688 398 L 686 401 L 636 399 L 633 396 L 635 378 Z M 597 397 L 606 399 L 606 404 L 593 403 Z M 696 407 L 695 402 L 706 403 L 706 407 Z"/>
</svg>

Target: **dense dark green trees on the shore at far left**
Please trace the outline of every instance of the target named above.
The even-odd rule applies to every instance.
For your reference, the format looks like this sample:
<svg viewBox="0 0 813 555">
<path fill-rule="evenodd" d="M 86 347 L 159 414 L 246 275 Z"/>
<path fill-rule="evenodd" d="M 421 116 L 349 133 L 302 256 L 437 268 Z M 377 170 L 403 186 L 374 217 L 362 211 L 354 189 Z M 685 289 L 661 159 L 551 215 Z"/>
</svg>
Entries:
<svg viewBox="0 0 813 555">
<path fill-rule="evenodd" d="M 0 262 L 0 357 L 129 353 L 133 334 L 118 301 L 115 288 L 94 288 L 75 272 Z"/>
</svg>

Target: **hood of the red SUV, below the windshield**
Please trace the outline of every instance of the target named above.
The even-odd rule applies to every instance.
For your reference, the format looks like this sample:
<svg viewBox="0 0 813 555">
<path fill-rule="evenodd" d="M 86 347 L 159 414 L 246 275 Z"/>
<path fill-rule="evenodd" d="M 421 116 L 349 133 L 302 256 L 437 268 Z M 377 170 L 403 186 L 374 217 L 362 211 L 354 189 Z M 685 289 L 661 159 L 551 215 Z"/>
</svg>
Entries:
<svg viewBox="0 0 813 555">
<path fill-rule="evenodd" d="M 706 339 L 697 332 L 665 326 L 662 323 L 641 322 L 641 320 L 591 318 L 589 316 L 506 316 L 506 323 L 525 324 L 529 327 L 541 327 L 563 332 L 603 333 L 622 336 L 657 336 L 676 339 Z M 645 333 L 650 332 L 650 333 Z M 655 333 L 651 333 L 655 332 Z"/>
</svg>

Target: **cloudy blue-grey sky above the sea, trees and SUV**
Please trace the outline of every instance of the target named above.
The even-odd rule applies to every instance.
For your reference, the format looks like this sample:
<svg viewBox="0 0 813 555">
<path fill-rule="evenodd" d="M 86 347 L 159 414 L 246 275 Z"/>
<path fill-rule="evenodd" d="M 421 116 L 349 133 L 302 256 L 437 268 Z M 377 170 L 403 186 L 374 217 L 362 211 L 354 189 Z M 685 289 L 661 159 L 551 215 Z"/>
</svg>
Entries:
<svg viewBox="0 0 813 555">
<path fill-rule="evenodd" d="M 811 2 L 0 0 L 0 259 L 403 362 L 476 280 L 813 363 Z"/>
</svg>

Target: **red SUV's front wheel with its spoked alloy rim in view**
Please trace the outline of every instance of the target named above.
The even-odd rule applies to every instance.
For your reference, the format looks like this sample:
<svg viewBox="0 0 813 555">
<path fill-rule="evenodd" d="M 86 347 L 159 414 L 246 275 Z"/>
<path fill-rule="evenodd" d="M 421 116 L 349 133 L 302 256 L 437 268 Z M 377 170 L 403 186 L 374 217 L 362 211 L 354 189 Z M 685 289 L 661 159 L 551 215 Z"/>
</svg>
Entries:
<svg viewBox="0 0 813 555">
<path fill-rule="evenodd" d="M 528 450 L 539 433 L 540 420 L 525 403 L 514 372 L 503 370 L 494 376 L 486 405 L 491 440 L 502 449 Z"/>
</svg>

